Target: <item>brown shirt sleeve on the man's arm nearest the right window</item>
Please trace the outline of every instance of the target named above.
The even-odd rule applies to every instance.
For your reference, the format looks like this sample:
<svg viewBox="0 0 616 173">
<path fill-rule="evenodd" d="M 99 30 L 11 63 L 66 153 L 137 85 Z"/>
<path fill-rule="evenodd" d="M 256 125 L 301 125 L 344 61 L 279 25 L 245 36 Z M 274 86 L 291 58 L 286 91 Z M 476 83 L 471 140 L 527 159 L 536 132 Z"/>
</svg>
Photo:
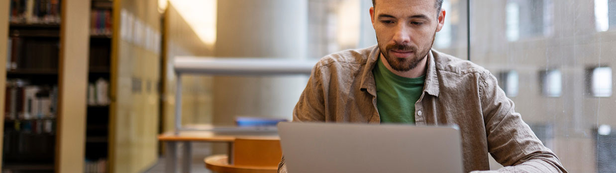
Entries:
<svg viewBox="0 0 616 173">
<path fill-rule="evenodd" d="M 535 136 L 514 103 L 485 71 L 479 82 L 488 152 L 503 168 L 486 172 L 567 172 L 557 156 Z"/>
</svg>

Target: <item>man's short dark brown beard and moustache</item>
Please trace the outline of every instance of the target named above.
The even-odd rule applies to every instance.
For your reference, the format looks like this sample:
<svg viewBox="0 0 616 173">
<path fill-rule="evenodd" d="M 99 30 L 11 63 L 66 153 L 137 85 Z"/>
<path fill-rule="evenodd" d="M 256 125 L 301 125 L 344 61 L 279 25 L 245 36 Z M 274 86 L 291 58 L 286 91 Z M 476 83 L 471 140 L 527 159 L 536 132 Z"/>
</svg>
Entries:
<svg viewBox="0 0 616 173">
<path fill-rule="evenodd" d="M 387 63 L 389 63 L 389 66 L 391 66 L 392 69 L 394 69 L 395 71 L 399 71 L 399 72 L 407 72 L 407 71 L 410 71 L 411 69 L 415 69 L 415 67 L 417 67 L 417 65 L 419 65 L 419 63 L 423 61 L 423 59 L 425 59 L 426 56 L 428 56 L 428 52 L 430 52 L 432 45 L 434 44 L 435 37 L 436 37 L 436 32 L 434 32 L 434 35 L 432 35 L 432 41 L 430 42 L 430 44 L 424 45 L 423 46 L 424 48 L 421 50 L 419 50 L 418 47 L 415 47 L 413 45 L 404 45 L 404 44 L 381 45 L 380 43 L 379 43 L 379 49 L 381 50 L 381 54 L 383 54 L 385 60 L 387 60 Z M 376 37 L 376 40 L 379 40 L 378 36 Z M 398 58 L 398 57 L 389 55 L 389 52 L 391 52 L 391 50 L 397 50 L 400 52 L 412 51 L 413 55 L 407 58 Z"/>
</svg>

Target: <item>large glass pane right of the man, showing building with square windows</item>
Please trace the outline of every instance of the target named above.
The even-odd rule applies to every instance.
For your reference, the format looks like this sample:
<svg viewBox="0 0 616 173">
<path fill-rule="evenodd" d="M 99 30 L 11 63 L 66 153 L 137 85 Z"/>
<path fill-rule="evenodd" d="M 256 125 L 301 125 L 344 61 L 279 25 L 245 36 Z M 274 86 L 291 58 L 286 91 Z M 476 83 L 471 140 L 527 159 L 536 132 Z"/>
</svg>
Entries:
<svg viewBox="0 0 616 173">
<path fill-rule="evenodd" d="M 472 3 L 471 31 L 471 60 L 569 172 L 616 170 L 616 1 Z"/>
</svg>

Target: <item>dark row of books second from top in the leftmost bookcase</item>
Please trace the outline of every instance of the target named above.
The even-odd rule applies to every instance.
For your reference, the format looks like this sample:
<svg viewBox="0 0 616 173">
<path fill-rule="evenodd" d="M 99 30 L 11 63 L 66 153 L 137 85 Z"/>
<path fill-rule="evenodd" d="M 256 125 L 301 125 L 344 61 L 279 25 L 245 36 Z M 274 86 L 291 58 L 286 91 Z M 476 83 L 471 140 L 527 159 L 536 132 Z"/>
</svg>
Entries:
<svg viewBox="0 0 616 173">
<path fill-rule="evenodd" d="M 7 50 L 7 70 L 58 68 L 59 40 L 36 40 L 13 36 L 9 37 Z"/>
</svg>

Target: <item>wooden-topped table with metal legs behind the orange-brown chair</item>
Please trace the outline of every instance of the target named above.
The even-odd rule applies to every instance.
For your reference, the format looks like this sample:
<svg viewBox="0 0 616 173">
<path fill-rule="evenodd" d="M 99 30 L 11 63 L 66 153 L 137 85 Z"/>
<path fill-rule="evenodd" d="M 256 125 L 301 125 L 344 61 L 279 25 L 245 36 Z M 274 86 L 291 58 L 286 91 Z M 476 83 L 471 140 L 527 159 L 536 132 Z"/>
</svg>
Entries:
<svg viewBox="0 0 616 173">
<path fill-rule="evenodd" d="M 165 154 L 165 172 L 176 172 L 177 167 L 177 144 L 184 143 L 184 151 L 182 152 L 182 172 L 190 172 L 190 164 L 192 161 L 191 142 L 224 142 L 229 145 L 227 149 L 229 162 L 233 161 L 233 141 L 238 138 L 259 138 L 270 139 L 278 138 L 277 133 L 215 133 L 213 131 L 180 131 L 178 134 L 167 132 L 160 134 L 158 140 L 166 143 Z M 229 163 L 232 164 L 232 163 Z"/>
</svg>

